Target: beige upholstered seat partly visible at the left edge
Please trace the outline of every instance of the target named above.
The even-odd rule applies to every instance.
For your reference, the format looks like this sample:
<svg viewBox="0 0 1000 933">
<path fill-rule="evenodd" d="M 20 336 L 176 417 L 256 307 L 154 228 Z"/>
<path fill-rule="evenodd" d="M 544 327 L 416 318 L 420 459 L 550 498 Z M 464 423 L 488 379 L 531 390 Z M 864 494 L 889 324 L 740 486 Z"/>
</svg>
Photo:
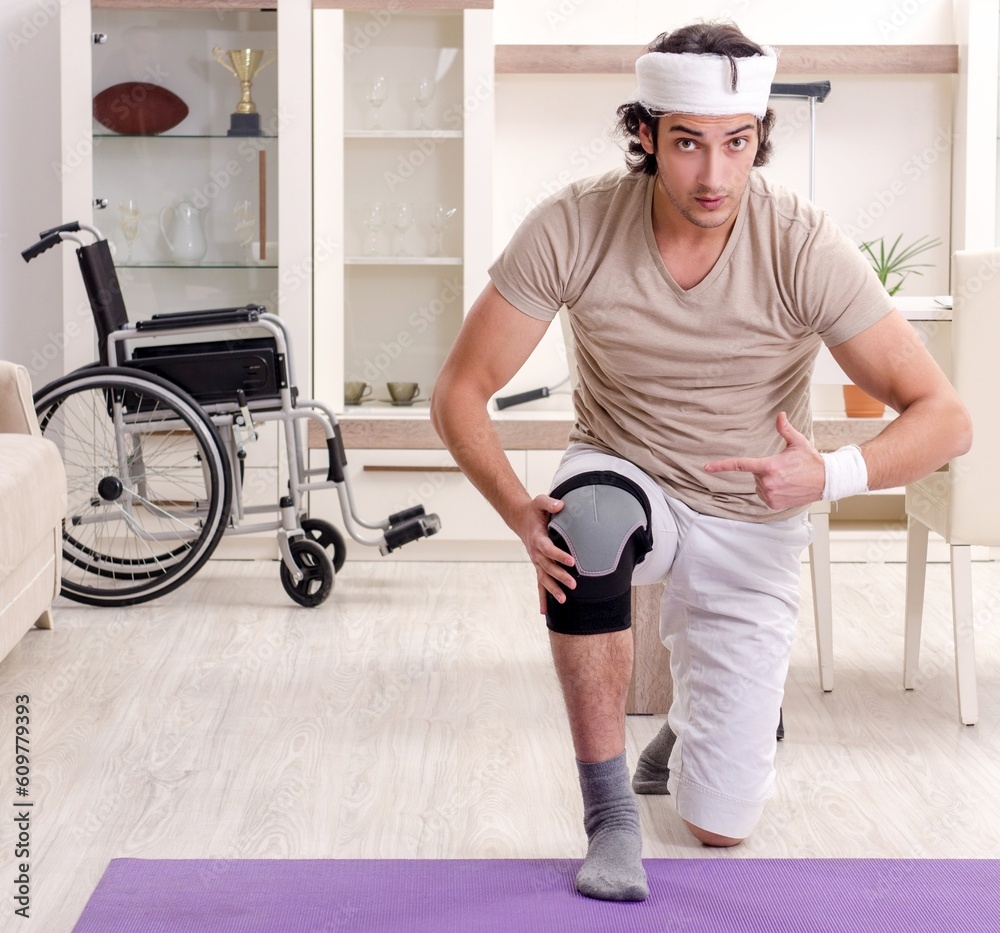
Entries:
<svg viewBox="0 0 1000 933">
<path fill-rule="evenodd" d="M 52 628 L 66 471 L 38 428 L 23 366 L 0 361 L 0 658 L 32 625 Z"/>
</svg>

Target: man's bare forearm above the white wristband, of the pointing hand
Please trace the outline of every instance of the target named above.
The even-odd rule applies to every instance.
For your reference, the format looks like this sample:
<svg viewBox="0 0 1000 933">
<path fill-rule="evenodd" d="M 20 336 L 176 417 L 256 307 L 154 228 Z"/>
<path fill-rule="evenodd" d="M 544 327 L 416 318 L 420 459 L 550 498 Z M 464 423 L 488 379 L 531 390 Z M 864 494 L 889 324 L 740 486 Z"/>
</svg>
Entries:
<svg viewBox="0 0 1000 933">
<path fill-rule="evenodd" d="M 960 402 L 920 399 L 861 445 L 868 488 L 905 486 L 927 476 L 965 453 L 971 441 L 971 423 Z"/>
</svg>

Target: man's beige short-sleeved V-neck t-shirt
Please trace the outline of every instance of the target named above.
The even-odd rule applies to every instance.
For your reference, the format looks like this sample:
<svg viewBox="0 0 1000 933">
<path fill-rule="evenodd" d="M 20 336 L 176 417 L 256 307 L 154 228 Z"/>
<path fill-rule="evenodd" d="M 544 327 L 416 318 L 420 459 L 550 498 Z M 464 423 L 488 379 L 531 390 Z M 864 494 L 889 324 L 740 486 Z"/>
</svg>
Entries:
<svg viewBox="0 0 1000 933">
<path fill-rule="evenodd" d="M 861 251 L 825 213 L 751 172 L 729 241 L 693 288 L 653 238 L 653 179 L 612 172 L 549 198 L 490 267 L 500 293 L 539 320 L 566 305 L 584 441 L 645 470 L 696 511 L 751 522 L 772 511 L 727 457 L 783 450 L 779 411 L 812 436 L 820 341 L 836 346 L 892 310 Z"/>
</svg>

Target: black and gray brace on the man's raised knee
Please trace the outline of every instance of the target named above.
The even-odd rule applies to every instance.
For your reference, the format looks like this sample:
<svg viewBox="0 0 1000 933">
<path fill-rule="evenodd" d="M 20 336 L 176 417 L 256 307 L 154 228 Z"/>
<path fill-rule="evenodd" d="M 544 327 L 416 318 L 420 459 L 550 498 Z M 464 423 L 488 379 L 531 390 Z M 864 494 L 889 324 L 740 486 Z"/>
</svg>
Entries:
<svg viewBox="0 0 1000 933">
<path fill-rule="evenodd" d="M 564 503 L 549 538 L 573 555 L 576 588 L 566 602 L 546 594 L 545 621 L 563 635 L 602 635 L 632 624 L 632 571 L 653 546 L 649 499 L 609 470 L 580 473 L 552 490 Z"/>
</svg>

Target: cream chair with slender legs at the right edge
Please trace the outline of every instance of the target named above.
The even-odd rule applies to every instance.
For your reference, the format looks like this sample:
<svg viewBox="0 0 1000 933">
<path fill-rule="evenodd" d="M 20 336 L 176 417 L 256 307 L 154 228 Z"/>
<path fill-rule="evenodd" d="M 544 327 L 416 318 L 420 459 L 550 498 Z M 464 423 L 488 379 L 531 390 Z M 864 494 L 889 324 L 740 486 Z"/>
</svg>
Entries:
<svg viewBox="0 0 1000 933">
<path fill-rule="evenodd" d="M 906 487 L 906 609 L 903 687 L 917 680 L 928 530 L 951 551 L 952 614 L 958 715 L 979 718 L 973 635 L 972 561 L 975 545 L 1000 546 L 1000 250 L 960 251 L 952 263 L 952 383 L 972 416 L 972 450 L 946 469 Z"/>
</svg>

